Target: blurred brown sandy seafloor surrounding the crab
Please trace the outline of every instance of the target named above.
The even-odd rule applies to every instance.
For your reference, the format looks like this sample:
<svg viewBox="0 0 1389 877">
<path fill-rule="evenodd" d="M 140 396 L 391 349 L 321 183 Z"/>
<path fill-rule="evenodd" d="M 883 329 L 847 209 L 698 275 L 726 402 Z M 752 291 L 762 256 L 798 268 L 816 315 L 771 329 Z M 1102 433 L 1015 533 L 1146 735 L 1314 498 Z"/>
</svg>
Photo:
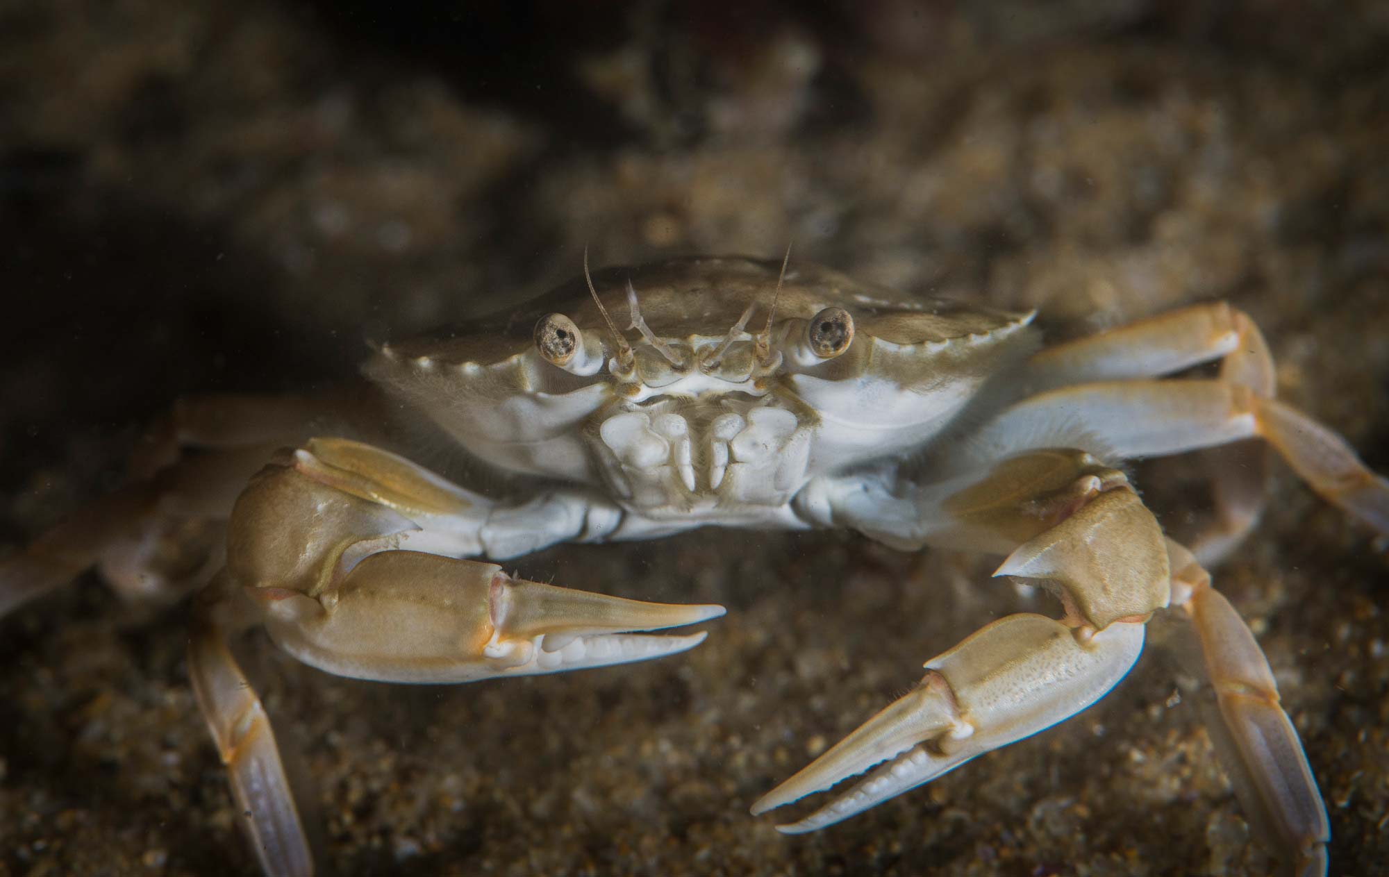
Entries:
<svg viewBox="0 0 1389 877">
<path fill-rule="evenodd" d="M 0 552 L 118 483 L 178 394 L 311 389 L 365 337 L 544 290 L 585 243 L 795 240 L 1056 334 L 1229 298 L 1281 395 L 1389 472 L 1382 4 L 715 7 L 0 4 Z M 1206 497 L 1188 472 L 1136 469 L 1174 529 Z M 1386 873 L 1383 545 L 1274 472 L 1217 583 L 1306 744 L 1332 873 Z M 322 873 L 1270 871 L 1157 649 L 1075 720 L 839 827 L 747 815 L 922 661 L 1053 609 L 988 558 L 704 531 L 514 566 L 729 615 L 685 656 L 464 687 L 253 641 Z M 92 574 L 0 620 L 0 874 L 256 873 L 185 619 Z"/>
</svg>

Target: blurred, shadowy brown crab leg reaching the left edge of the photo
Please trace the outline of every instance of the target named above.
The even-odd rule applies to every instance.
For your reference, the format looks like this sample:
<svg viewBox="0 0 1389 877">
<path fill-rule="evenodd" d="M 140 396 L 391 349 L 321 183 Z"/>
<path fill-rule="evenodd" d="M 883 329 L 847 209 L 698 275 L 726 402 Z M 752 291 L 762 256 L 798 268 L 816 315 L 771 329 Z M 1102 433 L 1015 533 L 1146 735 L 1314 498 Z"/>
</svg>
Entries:
<svg viewBox="0 0 1389 877">
<path fill-rule="evenodd" d="M 176 595 L 206 583 L 221 563 L 236 494 L 272 450 L 193 457 L 79 508 L 0 561 L 0 618 L 92 566 L 131 599 Z"/>
</svg>

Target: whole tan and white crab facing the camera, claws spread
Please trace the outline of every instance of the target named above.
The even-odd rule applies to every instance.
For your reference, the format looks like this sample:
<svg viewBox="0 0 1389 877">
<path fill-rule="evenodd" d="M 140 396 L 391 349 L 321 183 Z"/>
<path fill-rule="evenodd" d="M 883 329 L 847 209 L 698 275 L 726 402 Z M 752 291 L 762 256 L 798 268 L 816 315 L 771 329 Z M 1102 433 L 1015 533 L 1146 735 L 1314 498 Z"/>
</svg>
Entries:
<svg viewBox="0 0 1389 877">
<path fill-rule="evenodd" d="M 149 477 L 0 565 L 0 612 L 93 565 L 132 593 L 206 583 L 197 701 L 263 869 L 297 876 L 313 871 L 306 830 L 229 648 L 253 626 L 339 676 L 464 683 L 672 655 L 706 634 L 650 631 L 724 613 L 497 563 L 557 543 L 842 527 L 993 554 L 996 576 L 1046 588 L 1060 613 L 1004 616 L 932 658 L 754 815 L 871 772 L 778 826 L 825 828 L 1064 722 L 1129 672 L 1161 616 L 1185 636 L 1250 823 L 1289 873 L 1325 874 L 1315 778 L 1206 570 L 1261 508 L 1264 454 L 1245 440 L 1379 533 L 1389 482 L 1274 398 L 1267 346 L 1228 304 L 1051 347 L 1033 316 L 788 261 L 590 275 L 585 258 L 581 279 L 465 333 L 381 346 L 363 387 L 176 407 L 138 465 Z M 1201 364 L 1218 376 L 1172 377 Z M 1215 520 L 1179 544 L 1120 466 L 1217 447 Z"/>
</svg>

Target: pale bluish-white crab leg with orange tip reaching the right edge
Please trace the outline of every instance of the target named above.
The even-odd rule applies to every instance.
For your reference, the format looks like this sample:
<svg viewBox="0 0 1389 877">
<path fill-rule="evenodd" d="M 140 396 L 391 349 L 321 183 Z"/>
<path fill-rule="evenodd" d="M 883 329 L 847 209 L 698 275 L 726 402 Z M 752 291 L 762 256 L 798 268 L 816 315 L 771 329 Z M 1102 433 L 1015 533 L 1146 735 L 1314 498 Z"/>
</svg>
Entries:
<svg viewBox="0 0 1389 877">
<path fill-rule="evenodd" d="M 1075 425 L 1085 425 L 1085 436 Z M 1389 482 L 1346 440 L 1295 408 L 1226 380 L 1078 384 L 1018 402 L 990 420 L 978 447 L 1007 457 L 1089 438 L 1115 458 L 1160 457 L 1264 438 L 1313 490 L 1389 533 Z M 1081 441 L 1083 445 L 1085 441 Z"/>
</svg>

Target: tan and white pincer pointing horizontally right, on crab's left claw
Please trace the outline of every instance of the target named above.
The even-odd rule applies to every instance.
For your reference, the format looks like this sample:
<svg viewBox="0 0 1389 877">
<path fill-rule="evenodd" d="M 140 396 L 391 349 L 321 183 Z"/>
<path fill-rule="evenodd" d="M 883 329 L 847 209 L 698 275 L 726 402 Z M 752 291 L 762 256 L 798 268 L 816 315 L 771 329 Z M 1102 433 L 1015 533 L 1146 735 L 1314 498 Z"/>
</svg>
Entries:
<svg viewBox="0 0 1389 877">
<path fill-rule="evenodd" d="M 661 658 L 704 633 L 650 636 L 717 605 L 624 599 L 513 579 L 496 563 L 413 551 L 369 555 L 318 597 L 250 587 L 271 637 L 338 676 L 465 683 Z"/>
</svg>

